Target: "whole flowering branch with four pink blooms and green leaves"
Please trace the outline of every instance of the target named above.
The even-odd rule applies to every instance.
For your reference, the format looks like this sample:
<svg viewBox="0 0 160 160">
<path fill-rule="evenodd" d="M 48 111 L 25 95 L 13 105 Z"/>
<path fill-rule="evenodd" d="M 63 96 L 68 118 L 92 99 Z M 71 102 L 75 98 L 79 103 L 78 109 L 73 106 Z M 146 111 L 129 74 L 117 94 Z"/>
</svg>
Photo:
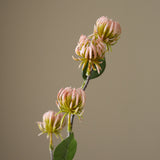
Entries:
<svg viewBox="0 0 160 160">
<path fill-rule="evenodd" d="M 59 112 L 48 111 L 43 115 L 43 121 L 37 122 L 41 134 L 46 133 L 50 138 L 49 150 L 51 160 L 72 160 L 77 142 L 72 131 L 75 115 L 82 117 L 86 101 L 85 90 L 90 79 L 99 77 L 105 70 L 105 53 L 112 51 L 121 34 L 120 24 L 107 17 L 100 17 L 94 25 L 93 33 L 89 36 L 81 35 L 75 48 L 77 57 L 72 56 L 75 61 L 80 61 L 79 68 L 82 69 L 84 83 L 81 88 L 61 88 L 57 94 L 57 107 Z M 63 114 L 64 113 L 64 114 Z M 66 117 L 68 116 L 68 121 Z M 61 140 L 61 130 L 68 122 L 68 137 L 56 148 L 53 154 L 53 133 Z"/>
</svg>

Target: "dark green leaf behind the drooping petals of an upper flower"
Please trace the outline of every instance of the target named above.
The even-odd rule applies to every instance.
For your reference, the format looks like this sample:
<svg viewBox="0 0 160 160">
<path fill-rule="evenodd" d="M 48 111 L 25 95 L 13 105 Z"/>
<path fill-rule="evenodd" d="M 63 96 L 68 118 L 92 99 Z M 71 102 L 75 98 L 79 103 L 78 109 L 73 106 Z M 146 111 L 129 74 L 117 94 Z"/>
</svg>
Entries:
<svg viewBox="0 0 160 160">
<path fill-rule="evenodd" d="M 105 70 L 105 68 L 106 68 L 106 60 L 105 60 L 105 58 L 104 58 L 103 60 L 100 60 L 100 62 L 102 62 L 102 63 L 100 64 L 100 66 L 101 66 L 100 74 L 98 74 L 97 70 L 96 70 L 96 71 L 93 70 L 93 71 L 91 72 L 90 79 L 97 78 L 97 77 L 99 77 L 99 76 L 104 72 L 104 70 Z M 88 64 L 86 65 L 86 67 L 85 67 L 84 70 L 82 71 L 82 77 L 83 77 L 84 80 L 87 79 L 87 75 L 86 75 L 86 73 L 87 73 L 87 68 L 88 68 Z"/>
</svg>

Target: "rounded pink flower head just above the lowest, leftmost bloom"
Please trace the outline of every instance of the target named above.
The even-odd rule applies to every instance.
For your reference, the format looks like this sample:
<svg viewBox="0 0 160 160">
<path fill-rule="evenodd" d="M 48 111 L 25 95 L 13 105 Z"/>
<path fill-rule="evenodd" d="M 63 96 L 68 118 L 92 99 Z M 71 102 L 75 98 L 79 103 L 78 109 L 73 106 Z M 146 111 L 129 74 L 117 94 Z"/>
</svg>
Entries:
<svg viewBox="0 0 160 160">
<path fill-rule="evenodd" d="M 76 114 L 80 117 L 85 99 L 85 92 L 81 88 L 66 87 L 59 90 L 56 103 L 61 112 Z"/>
</svg>

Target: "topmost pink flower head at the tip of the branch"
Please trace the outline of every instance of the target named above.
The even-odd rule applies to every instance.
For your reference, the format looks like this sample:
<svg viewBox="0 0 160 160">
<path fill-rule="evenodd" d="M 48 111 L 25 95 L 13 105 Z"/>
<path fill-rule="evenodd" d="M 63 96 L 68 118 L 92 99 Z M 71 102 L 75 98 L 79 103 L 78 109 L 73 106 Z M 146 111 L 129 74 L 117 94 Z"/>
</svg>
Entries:
<svg viewBox="0 0 160 160">
<path fill-rule="evenodd" d="M 94 33 L 98 34 L 108 45 L 114 45 L 121 34 L 120 24 L 107 17 L 100 17 L 94 26 Z"/>
</svg>

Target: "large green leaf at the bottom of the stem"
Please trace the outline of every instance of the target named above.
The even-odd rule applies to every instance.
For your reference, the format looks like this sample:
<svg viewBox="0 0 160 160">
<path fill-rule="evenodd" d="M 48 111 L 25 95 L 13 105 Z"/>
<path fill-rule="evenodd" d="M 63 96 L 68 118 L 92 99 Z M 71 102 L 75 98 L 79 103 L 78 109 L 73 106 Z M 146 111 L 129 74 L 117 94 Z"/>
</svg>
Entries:
<svg viewBox="0 0 160 160">
<path fill-rule="evenodd" d="M 77 149 L 77 142 L 74 134 L 64 139 L 54 151 L 54 160 L 72 160 Z"/>
</svg>

